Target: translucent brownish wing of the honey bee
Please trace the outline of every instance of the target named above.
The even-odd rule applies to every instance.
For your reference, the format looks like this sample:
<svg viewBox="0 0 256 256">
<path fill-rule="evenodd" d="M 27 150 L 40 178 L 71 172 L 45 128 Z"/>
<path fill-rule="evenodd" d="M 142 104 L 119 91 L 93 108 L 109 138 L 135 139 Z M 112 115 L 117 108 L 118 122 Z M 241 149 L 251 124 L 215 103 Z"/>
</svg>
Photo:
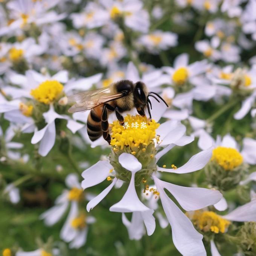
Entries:
<svg viewBox="0 0 256 256">
<path fill-rule="evenodd" d="M 70 113 L 90 110 L 108 101 L 121 98 L 122 93 L 111 94 L 110 88 L 99 88 L 93 91 L 84 91 L 76 93 L 73 96 L 68 97 L 68 102 L 75 102 L 70 109 Z"/>
</svg>

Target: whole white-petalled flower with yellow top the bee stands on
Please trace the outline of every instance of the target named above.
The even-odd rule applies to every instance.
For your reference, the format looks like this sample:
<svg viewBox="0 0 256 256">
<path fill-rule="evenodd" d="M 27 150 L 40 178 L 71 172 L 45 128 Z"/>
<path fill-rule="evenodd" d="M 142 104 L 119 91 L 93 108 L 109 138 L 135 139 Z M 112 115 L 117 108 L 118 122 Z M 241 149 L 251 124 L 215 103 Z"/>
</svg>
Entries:
<svg viewBox="0 0 256 256">
<path fill-rule="evenodd" d="M 206 255 L 201 241 L 202 236 L 195 231 L 192 223 L 168 197 L 164 189 L 169 190 L 185 210 L 201 209 L 207 205 L 215 204 L 221 200 L 222 195 L 216 190 L 181 187 L 167 183 L 158 179 L 156 173 L 157 171 L 165 171 L 181 174 L 197 171 L 210 160 L 212 149 L 194 155 L 180 168 L 174 164 L 172 166 L 170 164 L 171 169 L 160 168 L 156 162 L 166 152 L 175 145 L 186 145 L 194 139 L 184 136 L 185 126 L 177 121 L 168 121 L 159 125 L 154 120 L 148 120 L 147 117 L 129 115 L 125 117 L 125 122 L 131 123 L 127 129 L 117 121 L 112 125 L 110 143 L 112 152 L 109 160 L 99 161 L 82 173 L 84 178 L 82 187 L 84 189 L 101 183 L 105 179 L 112 181 L 106 189 L 87 204 L 87 210 L 95 207 L 110 192 L 118 180 L 129 182 L 125 195 L 119 202 L 110 207 L 110 211 L 136 214 L 137 217 L 134 218 L 143 220 L 148 235 L 151 235 L 155 229 L 155 220 L 152 215 L 154 209 L 140 201 L 135 186 L 142 186 L 142 190 L 153 193 L 154 197 L 160 198 L 166 217 L 172 226 L 173 241 L 177 249 L 183 255 Z M 147 127 L 140 129 L 136 125 L 136 128 L 135 123 L 143 123 L 143 125 L 145 123 Z M 163 147 L 162 151 L 159 151 L 160 146 Z M 156 186 L 151 191 L 149 191 L 148 185 L 150 179 L 154 180 Z M 129 224 L 126 219 L 123 221 L 126 226 L 133 225 Z"/>
</svg>

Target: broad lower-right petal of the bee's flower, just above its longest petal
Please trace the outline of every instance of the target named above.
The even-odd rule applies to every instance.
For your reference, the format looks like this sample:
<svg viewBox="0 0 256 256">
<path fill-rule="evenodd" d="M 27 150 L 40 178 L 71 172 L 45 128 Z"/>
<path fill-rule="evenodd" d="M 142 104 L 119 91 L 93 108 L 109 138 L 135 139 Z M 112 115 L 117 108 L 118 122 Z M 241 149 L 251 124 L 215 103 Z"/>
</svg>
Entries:
<svg viewBox="0 0 256 256">
<path fill-rule="evenodd" d="M 217 203 L 222 198 L 222 194 L 218 190 L 178 186 L 156 177 L 154 180 L 157 180 L 158 184 L 167 189 L 186 211 L 202 209 Z"/>
</svg>

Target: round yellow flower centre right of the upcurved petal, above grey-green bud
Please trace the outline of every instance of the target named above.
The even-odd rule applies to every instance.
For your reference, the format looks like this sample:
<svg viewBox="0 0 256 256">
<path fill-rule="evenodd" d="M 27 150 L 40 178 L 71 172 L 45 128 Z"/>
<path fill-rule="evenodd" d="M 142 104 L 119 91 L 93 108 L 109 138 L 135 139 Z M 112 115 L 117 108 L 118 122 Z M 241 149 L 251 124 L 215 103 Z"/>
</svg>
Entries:
<svg viewBox="0 0 256 256">
<path fill-rule="evenodd" d="M 216 161 L 218 165 L 225 170 L 232 171 L 243 162 L 242 155 L 235 148 L 226 148 L 218 146 L 212 151 L 212 161 Z"/>
</svg>

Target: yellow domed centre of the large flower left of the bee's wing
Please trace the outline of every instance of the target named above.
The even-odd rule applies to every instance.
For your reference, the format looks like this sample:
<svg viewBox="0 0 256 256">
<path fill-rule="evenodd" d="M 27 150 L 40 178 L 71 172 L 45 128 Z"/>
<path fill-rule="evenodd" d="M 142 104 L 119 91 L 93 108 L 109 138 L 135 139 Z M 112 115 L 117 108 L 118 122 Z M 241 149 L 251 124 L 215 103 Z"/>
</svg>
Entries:
<svg viewBox="0 0 256 256">
<path fill-rule="evenodd" d="M 31 90 L 30 94 L 39 102 L 50 104 L 55 101 L 63 90 L 63 85 L 56 81 L 42 82 L 37 88 Z"/>
</svg>

